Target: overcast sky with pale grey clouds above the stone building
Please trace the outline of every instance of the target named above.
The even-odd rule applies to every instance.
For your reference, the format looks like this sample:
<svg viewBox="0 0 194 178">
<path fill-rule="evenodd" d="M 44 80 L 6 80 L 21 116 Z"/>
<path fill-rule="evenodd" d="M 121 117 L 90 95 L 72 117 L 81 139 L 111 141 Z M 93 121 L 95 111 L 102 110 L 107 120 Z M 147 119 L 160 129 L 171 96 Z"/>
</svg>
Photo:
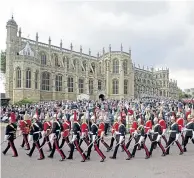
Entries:
<svg viewBox="0 0 194 178">
<path fill-rule="evenodd" d="M 181 89 L 194 88 L 194 2 L 68 2 L 6 0 L 0 10 L 0 49 L 5 49 L 6 22 L 14 14 L 22 36 L 60 44 L 92 55 L 109 44 L 132 49 L 140 66 L 170 68 Z"/>
</svg>

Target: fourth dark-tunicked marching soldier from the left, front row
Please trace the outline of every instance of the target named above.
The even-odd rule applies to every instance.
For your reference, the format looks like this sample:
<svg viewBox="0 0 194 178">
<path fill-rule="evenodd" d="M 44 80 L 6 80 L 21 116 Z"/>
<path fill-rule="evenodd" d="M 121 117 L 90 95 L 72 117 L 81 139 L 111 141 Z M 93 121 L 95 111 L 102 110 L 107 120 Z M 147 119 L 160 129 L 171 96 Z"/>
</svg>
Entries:
<svg viewBox="0 0 194 178">
<path fill-rule="evenodd" d="M 80 128 L 80 124 L 78 123 L 77 117 L 75 114 L 74 114 L 74 121 L 73 121 L 72 129 L 73 129 L 73 138 L 72 138 L 71 144 L 70 144 L 71 150 L 70 150 L 70 153 L 69 153 L 69 156 L 67 157 L 67 159 L 73 159 L 73 152 L 74 152 L 74 149 L 76 147 L 77 151 L 80 153 L 80 155 L 83 158 L 81 162 L 85 162 L 86 155 L 83 153 L 83 150 L 79 146 L 81 128 Z"/>
</svg>

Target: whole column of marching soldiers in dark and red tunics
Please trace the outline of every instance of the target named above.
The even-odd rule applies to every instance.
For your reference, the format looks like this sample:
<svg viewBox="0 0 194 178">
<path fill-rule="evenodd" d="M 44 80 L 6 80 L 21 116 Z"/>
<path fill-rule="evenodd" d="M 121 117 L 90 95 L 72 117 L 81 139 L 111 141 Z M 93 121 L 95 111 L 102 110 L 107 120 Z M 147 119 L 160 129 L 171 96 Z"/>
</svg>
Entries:
<svg viewBox="0 0 194 178">
<path fill-rule="evenodd" d="M 128 116 L 128 114 L 127 114 Z M 110 144 L 105 141 L 105 120 L 107 114 L 104 110 L 98 110 L 98 113 L 90 113 L 90 119 L 86 118 L 86 114 L 82 115 L 78 119 L 77 111 L 73 110 L 72 117 L 70 120 L 64 115 L 62 118 L 59 117 L 58 111 L 55 110 L 53 116 L 49 116 L 49 113 L 45 115 L 43 122 L 40 122 L 39 114 L 36 113 L 32 118 L 27 112 L 24 115 L 23 120 L 18 124 L 20 128 L 20 134 L 16 136 L 17 123 L 14 112 L 10 115 L 10 122 L 6 126 L 5 139 L 2 143 L 8 141 L 7 147 L 2 152 L 4 155 L 11 147 L 13 150 L 13 157 L 17 157 L 18 153 L 14 145 L 14 140 L 22 136 L 21 147 L 25 150 L 29 150 L 27 155 L 32 156 L 35 148 L 38 150 L 40 156 L 38 160 L 45 158 L 43 148 L 47 145 L 49 158 L 54 157 L 55 151 L 61 156 L 60 161 L 65 159 L 73 159 L 74 151 L 77 150 L 82 158 L 81 162 L 90 160 L 92 147 L 99 155 L 100 162 L 104 162 L 106 156 L 100 148 L 100 143 L 106 148 L 107 152 L 113 150 L 111 159 L 116 159 L 119 146 L 122 151 L 127 155 L 126 160 L 130 160 L 135 157 L 136 151 L 144 149 L 145 159 L 149 159 L 157 145 L 160 147 L 162 156 L 170 154 L 170 147 L 176 143 L 179 154 L 182 155 L 187 151 L 187 144 L 189 139 L 194 144 L 194 114 L 187 115 L 187 120 L 181 116 L 178 112 L 176 115 L 170 117 L 170 127 L 167 129 L 167 124 L 162 117 L 162 112 L 154 115 L 154 119 L 150 119 L 151 111 L 146 110 L 145 118 L 147 121 L 143 121 L 141 114 L 136 111 L 130 110 L 130 120 L 132 122 L 129 128 L 129 138 L 126 138 L 127 127 L 126 127 L 126 114 L 123 110 L 116 116 L 115 123 L 112 125 L 112 137 Z M 166 133 L 169 133 L 167 141 Z M 181 136 L 181 137 L 180 137 Z M 151 147 L 148 149 L 146 146 L 146 140 L 149 138 Z M 179 138 L 182 139 L 182 144 L 179 142 Z M 60 141 L 61 139 L 61 141 Z M 162 145 L 161 140 L 164 140 L 165 146 Z M 130 152 L 132 140 L 135 141 L 133 149 Z M 114 146 L 114 142 L 116 144 Z M 87 149 L 81 148 L 82 143 L 85 142 Z M 31 145 L 31 146 L 30 146 Z M 63 148 L 69 147 L 69 155 L 66 156 L 63 152 Z"/>
</svg>

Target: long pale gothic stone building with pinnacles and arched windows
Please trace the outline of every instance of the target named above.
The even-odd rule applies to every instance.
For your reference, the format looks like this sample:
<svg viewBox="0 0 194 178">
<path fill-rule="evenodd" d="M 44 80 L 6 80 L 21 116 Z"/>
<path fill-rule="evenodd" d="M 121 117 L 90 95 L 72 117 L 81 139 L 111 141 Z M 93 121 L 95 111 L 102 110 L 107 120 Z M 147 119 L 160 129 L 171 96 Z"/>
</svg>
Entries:
<svg viewBox="0 0 194 178">
<path fill-rule="evenodd" d="M 169 70 L 154 71 L 135 67 L 131 50 L 109 51 L 94 57 L 21 36 L 21 28 L 10 19 L 7 28 L 6 96 L 15 103 L 24 98 L 33 101 L 76 100 L 87 94 L 90 99 L 136 98 L 143 96 L 176 97 L 176 82 L 169 82 Z"/>
</svg>

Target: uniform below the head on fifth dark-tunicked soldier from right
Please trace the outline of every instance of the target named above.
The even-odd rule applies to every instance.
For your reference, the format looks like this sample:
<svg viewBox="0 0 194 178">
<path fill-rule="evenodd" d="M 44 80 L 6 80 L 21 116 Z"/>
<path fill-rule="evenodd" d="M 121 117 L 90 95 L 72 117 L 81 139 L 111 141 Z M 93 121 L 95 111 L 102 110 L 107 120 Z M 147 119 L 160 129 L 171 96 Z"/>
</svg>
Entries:
<svg viewBox="0 0 194 178">
<path fill-rule="evenodd" d="M 119 132 L 116 133 L 116 141 L 117 141 L 117 145 L 115 147 L 113 156 L 110 157 L 111 159 L 116 159 L 117 156 L 117 151 L 119 146 L 122 147 L 122 149 L 125 151 L 125 153 L 127 154 L 128 158 L 126 160 L 130 160 L 131 159 L 131 153 L 129 152 L 129 150 L 127 150 L 126 146 L 125 146 L 125 134 L 126 134 L 126 128 L 124 124 L 120 124 L 119 125 Z"/>
</svg>

